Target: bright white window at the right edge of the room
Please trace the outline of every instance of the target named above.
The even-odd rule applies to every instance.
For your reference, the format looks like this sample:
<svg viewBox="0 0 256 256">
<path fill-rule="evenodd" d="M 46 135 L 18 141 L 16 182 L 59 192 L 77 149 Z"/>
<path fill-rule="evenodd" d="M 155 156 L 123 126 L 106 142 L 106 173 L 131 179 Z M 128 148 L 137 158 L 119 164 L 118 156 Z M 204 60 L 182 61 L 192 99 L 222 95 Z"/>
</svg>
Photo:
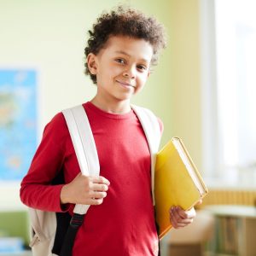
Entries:
<svg viewBox="0 0 256 256">
<path fill-rule="evenodd" d="M 201 3 L 201 21 L 207 22 L 202 25 L 207 175 L 250 186 L 256 181 L 256 2 Z"/>
</svg>

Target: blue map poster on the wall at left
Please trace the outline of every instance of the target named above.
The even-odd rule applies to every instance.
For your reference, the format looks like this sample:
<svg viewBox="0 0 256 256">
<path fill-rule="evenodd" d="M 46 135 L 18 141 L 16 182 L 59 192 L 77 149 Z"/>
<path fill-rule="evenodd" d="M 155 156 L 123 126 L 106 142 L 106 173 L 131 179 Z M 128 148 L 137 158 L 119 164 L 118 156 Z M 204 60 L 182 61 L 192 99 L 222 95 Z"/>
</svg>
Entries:
<svg viewBox="0 0 256 256">
<path fill-rule="evenodd" d="M 0 69 L 0 182 L 20 182 L 37 147 L 37 73 Z"/>
</svg>

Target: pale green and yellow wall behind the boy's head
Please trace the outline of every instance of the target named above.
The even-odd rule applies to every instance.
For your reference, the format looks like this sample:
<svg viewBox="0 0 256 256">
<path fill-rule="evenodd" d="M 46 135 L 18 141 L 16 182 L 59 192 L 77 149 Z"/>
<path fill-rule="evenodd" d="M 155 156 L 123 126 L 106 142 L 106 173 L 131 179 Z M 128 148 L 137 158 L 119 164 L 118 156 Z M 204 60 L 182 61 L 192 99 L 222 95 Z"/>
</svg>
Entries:
<svg viewBox="0 0 256 256">
<path fill-rule="evenodd" d="M 183 137 L 201 169 L 199 0 L 0 0 L 0 67 L 38 69 L 41 137 L 56 112 L 94 95 L 83 73 L 87 31 L 103 9 L 118 3 L 131 3 L 166 26 L 167 49 L 134 102 L 164 121 L 162 143 Z"/>
</svg>

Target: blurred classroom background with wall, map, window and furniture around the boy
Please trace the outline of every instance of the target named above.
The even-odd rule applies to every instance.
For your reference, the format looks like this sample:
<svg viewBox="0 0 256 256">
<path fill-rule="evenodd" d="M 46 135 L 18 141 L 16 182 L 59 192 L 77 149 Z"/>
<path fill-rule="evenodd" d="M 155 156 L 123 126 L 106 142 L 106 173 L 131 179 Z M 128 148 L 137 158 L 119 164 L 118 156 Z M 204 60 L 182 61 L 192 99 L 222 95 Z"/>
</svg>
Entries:
<svg viewBox="0 0 256 256">
<path fill-rule="evenodd" d="M 163 120 L 162 145 L 183 138 L 210 191 L 195 223 L 161 242 L 163 256 L 256 255 L 253 0 L 0 0 L 0 255 L 29 254 L 20 180 L 44 125 L 94 96 L 87 31 L 119 3 L 166 26 L 167 48 L 133 102 Z"/>
</svg>

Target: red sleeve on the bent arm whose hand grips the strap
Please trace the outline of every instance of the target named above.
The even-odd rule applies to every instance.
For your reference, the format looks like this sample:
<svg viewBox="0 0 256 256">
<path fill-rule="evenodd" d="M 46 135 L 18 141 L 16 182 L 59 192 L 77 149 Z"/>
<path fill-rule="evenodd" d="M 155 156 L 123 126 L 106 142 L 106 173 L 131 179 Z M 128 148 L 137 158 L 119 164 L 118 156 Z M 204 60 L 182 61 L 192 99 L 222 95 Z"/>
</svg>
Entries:
<svg viewBox="0 0 256 256">
<path fill-rule="evenodd" d="M 68 210 L 69 205 L 61 206 L 60 195 L 63 184 L 51 184 L 61 172 L 67 136 L 66 121 L 62 113 L 58 113 L 45 126 L 42 141 L 21 182 L 20 200 L 26 206 L 50 212 Z"/>
</svg>

